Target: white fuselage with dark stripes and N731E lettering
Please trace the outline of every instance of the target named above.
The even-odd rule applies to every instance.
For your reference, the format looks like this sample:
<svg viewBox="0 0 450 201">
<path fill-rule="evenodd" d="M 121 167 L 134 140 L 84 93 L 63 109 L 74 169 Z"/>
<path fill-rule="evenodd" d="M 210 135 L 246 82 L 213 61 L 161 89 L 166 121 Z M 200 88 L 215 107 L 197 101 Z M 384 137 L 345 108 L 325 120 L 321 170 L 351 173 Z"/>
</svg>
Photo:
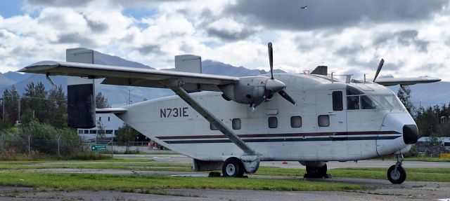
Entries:
<svg viewBox="0 0 450 201">
<path fill-rule="evenodd" d="M 362 160 L 409 150 L 402 128 L 415 123 L 404 106 L 397 104 L 394 93 L 382 85 L 332 82 L 325 76 L 303 74 L 275 77 L 287 85 L 286 92 L 297 105 L 274 95 L 252 111 L 248 104 L 226 101 L 221 92 L 196 92 L 191 96 L 257 151 L 260 160 Z M 363 97 L 347 97 L 349 85 L 364 95 L 382 97 L 373 99 L 378 106 L 362 109 L 366 107 Z M 341 110 L 333 107 L 336 91 L 342 92 Z M 361 109 L 347 108 L 347 99 L 359 99 Z M 177 96 L 125 108 L 127 113 L 118 115 L 124 122 L 173 151 L 210 161 L 243 155 L 238 146 L 213 130 L 203 116 Z"/>
</svg>

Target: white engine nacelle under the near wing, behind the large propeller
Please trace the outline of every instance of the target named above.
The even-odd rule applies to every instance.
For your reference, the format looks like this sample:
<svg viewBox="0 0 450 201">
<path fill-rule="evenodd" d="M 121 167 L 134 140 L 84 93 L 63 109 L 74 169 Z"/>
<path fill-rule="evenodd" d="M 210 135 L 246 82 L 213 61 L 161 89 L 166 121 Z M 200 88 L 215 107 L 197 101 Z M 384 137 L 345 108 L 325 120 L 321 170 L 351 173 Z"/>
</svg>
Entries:
<svg viewBox="0 0 450 201">
<path fill-rule="evenodd" d="M 239 78 L 239 82 L 233 85 L 220 86 L 224 95 L 234 102 L 241 104 L 259 104 L 264 102 L 266 82 L 270 78 L 264 76 L 251 76 Z"/>
</svg>

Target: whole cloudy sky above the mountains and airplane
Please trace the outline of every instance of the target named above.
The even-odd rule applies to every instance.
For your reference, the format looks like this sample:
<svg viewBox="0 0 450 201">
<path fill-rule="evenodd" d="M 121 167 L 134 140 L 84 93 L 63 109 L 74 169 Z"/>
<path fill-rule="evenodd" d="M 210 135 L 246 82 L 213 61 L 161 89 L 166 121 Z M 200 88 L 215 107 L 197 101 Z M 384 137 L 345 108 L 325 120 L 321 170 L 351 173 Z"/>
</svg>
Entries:
<svg viewBox="0 0 450 201">
<path fill-rule="evenodd" d="M 307 6 L 307 9 L 300 9 Z M 0 1 L 0 72 L 92 48 L 157 69 L 195 54 L 249 69 L 450 81 L 449 0 Z"/>
</svg>

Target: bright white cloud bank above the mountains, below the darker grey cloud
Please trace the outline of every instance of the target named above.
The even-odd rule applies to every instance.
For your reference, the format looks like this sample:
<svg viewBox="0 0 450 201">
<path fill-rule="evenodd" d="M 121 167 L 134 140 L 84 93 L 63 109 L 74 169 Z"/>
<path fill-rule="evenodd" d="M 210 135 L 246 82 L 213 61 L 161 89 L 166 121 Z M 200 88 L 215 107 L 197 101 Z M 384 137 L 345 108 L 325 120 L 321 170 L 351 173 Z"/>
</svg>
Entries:
<svg viewBox="0 0 450 201">
<path fill-rule="evenodd" d="M 300 73 L 326 64 L 330 71 L 361 76 L 373 74 L 383 57 L 381 74 L 429 75 L 450 81 L 445 69 L 450 64 L 449 6 L 430 19 L 293 31 L 245 24 L 244 17 L 224 13 L 228 4 L 236 1 L 139 1 L 129 5 L 100 0 L 73 8 L 58 4 L 39 9 L 25 5 L 33 15 L 0 16 L 0 71 L 39 60 L 64 60 L 65 48 L 78 46 L 158 69 L 173 67 L 174 55 L 197 54 L 203 60 L 267 70 L 266 43 L 272 41 L 274 66 L 285 71 Z M 158 12 L 139 20 L 122 14 L 126 6 L 136 5 Z M 210 29 L 235 38 L 213 36 Z M 404 39 L 401 32 L 417 34 Z"/>
</svg>

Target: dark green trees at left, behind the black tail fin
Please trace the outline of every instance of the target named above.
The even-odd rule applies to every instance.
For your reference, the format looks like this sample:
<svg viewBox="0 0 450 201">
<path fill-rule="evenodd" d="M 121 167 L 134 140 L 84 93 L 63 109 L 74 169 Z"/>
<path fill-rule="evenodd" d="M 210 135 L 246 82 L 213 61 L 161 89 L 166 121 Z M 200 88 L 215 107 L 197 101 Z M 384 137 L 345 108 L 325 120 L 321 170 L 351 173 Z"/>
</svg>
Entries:
<svg viewBox="0 0 450 201">
<path fill-rule="evenodd" d="M 107 108 L 108 98 L 102 92 L 96 93 L 96 108 Z M 0 130 L 8 130 L 17 125 L 27 127 L 32 124 L 37 127 L 37 123 L 43 127 L 54 127 L 56 129 L 72 130 L 68 127 L 68 102 L 67 95 L 61 85 L 47 90 L 44 83 L 28 83 L 25 86 L 23 95 L 13 86 L 3 92 L 1 99 L 1 122 Z M 97 122 L 98 129 L 103 129 L 103 125 Z M 102 134 L 103 132 L 99 132 Z M 122 125 L 117 134 L 117 141 L 135 141 L 136 137 L 142 135 L 129 125 Z M 101 135 L 101 136 L 104 136 Z M 140 137 L 140 139 L 145 139 Z"/>
</svg>

